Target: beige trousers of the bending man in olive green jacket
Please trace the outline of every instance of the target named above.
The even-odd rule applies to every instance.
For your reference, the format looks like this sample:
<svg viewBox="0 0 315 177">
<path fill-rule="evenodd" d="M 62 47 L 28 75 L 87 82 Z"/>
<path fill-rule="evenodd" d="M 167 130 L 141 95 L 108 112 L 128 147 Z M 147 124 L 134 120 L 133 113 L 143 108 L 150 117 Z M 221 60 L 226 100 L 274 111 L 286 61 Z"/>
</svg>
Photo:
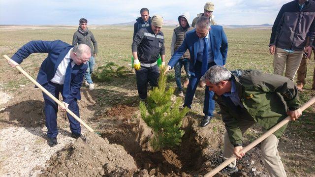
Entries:
<svg viewBox="0 0 315 177">
<path fill-rule="evenodd" d="M 239 128 L 242 131 L 242 134 L 252 126 L 253 121 L 242 121 L 239 123 Z M 263 132 L 267 130 L 263 129 Z M 267 167 L 269 175 L 271 177 L 286 177 L 284 166 L 282 164 L 281 158 L 278 152 L 278 143 L 279 139 L 274 135 L 270 135 L 268 138 L 261 142 L 261 156 L 264 164 Z M 223 150 L 223 159 L 227 160 L 233 155 L 234 146 L 231 144 L 227 132 L 224 135 L 224 150 Z M 228 165 L 228 167 L 235 167 L 236 160 Z"/>
</svg>

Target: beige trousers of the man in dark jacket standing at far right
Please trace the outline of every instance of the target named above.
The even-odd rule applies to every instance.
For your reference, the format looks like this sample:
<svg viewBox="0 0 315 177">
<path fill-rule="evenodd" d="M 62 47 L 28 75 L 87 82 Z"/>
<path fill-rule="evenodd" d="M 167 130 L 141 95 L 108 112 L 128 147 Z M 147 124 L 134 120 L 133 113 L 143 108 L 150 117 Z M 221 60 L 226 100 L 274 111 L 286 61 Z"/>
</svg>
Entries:
<svg viewBox="0 0 315 177">
<path fill-rule="evenodd" d="M 293 81 L 297 69 L 300 66 L 304 51 L 286 52 L 284 49 L 276 47 L 274 55 L 274 74 L 283 75 Z"/>
</svg>

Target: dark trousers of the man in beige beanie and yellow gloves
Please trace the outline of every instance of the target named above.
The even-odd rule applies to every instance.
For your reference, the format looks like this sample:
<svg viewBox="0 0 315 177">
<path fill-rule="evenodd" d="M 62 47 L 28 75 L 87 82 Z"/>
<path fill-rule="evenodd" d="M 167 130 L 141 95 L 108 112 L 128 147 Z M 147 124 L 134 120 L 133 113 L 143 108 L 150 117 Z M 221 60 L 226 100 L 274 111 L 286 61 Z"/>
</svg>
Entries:
<svg viewBox="0 0 315 177">
<path fill-rule="evenodd" d="M 147 98 L 147 82 L 150 81 L 152 87 L 158 87 L 159 70 L 158 65 L 143 67 L 136 70 L 137 89 L 140 99 Z"/>
</svg>

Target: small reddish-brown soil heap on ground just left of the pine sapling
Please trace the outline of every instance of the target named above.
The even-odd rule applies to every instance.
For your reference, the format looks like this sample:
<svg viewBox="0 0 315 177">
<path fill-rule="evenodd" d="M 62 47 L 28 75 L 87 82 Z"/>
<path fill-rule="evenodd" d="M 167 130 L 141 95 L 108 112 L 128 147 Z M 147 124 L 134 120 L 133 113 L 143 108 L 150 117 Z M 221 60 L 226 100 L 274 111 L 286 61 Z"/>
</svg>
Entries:
<svg viewBox="0 0 315 177">
<path fill-rule="evenodd" d="M 107 110 L 105 112 L 105 116 L 108 117 L 119 117 L 123 116 L 125 118 L 128 118 L 134 114 L 134 112 L 137 110 L 135 107 L 129 107 L 127 105 L 117 105 L 110 110 Z"/>
</svg>

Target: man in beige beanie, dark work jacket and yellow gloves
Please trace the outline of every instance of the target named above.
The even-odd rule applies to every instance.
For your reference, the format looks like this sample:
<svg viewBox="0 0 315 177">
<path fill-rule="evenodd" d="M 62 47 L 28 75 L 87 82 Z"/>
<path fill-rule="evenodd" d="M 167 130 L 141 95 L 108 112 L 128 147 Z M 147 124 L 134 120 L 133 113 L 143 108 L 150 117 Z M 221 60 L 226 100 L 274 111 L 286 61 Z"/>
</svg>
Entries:
<svg viewBox="0 0 315 177">
<path fill-rule="evenodd" d="M 133 67 L 136 71 L 137 89 L 141 100 L 147 98 L 146 84 L 158 86 L 158 58 L 165 65 L 164 34 L 161 30 L 163 19 L 159 15 L 152 17 L 150 27 L 140 29 L 132 41 Z"/>
</svg>

